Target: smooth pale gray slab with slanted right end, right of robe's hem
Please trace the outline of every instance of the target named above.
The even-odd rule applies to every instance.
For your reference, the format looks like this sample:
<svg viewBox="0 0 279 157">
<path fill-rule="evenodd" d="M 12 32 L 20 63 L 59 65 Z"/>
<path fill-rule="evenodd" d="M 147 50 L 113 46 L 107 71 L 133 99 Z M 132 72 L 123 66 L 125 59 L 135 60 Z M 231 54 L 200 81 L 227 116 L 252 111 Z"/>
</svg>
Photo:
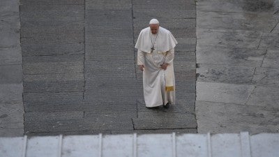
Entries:
<svg viewBox="0 0 279 157">
<path fill-rule="evenodd" d="M 197 82 L 196 100 L 244 105 L 254 89 L 246 84 Z"/>
</svg>

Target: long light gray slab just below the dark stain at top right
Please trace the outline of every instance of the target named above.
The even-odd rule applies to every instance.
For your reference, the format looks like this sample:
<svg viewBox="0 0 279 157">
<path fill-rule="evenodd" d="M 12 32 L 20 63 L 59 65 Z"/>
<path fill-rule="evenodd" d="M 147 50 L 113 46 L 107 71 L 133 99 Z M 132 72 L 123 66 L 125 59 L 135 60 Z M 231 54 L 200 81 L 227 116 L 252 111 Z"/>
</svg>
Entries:
<svg viewBox="0 0 279 157">
<path fill-rule="evenodd" d="M 198 28 L 255 30 L 269 32 L 276 25 L 273 13 L 235 13 L 199 11 Z"/>
</svg>

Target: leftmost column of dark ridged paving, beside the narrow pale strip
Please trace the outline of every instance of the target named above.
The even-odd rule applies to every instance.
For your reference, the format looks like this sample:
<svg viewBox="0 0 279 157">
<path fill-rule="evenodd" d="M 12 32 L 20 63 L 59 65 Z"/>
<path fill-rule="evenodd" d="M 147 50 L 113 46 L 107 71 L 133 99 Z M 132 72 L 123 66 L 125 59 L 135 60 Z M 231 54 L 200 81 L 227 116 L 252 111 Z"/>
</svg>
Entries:
<svg viewBox="0 0 279 157">
<path fill-rule="evenodd" d="M 20 2 L 24 132 L 57 133 L 83 115 L 84 1 Z"/>
</svg>

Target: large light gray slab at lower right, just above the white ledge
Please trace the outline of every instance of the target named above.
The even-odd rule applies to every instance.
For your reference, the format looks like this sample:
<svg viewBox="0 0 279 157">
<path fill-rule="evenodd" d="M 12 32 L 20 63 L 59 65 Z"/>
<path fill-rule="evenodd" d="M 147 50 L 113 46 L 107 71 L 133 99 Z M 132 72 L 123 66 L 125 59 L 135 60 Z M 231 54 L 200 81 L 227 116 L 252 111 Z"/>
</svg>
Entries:
<svg viewBox="0 0 279 157">
<path fill-rule="evenodd" d="M 198 133 L 278 131 L 278 112 L 272 107 L 196 101 Z"/>
</svg>

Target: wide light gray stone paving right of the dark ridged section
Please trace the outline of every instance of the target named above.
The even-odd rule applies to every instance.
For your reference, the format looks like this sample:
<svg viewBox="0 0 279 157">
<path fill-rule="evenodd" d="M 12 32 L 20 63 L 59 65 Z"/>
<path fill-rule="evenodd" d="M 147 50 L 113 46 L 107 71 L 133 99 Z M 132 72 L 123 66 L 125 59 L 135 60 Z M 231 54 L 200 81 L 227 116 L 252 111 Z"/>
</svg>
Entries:
<svg viewBox="0 0 279 157">
<path fill-rule="evenodd" d="M 197 1 L 198 133 L 279 131 L 279 1 Z"/>
</svg>

